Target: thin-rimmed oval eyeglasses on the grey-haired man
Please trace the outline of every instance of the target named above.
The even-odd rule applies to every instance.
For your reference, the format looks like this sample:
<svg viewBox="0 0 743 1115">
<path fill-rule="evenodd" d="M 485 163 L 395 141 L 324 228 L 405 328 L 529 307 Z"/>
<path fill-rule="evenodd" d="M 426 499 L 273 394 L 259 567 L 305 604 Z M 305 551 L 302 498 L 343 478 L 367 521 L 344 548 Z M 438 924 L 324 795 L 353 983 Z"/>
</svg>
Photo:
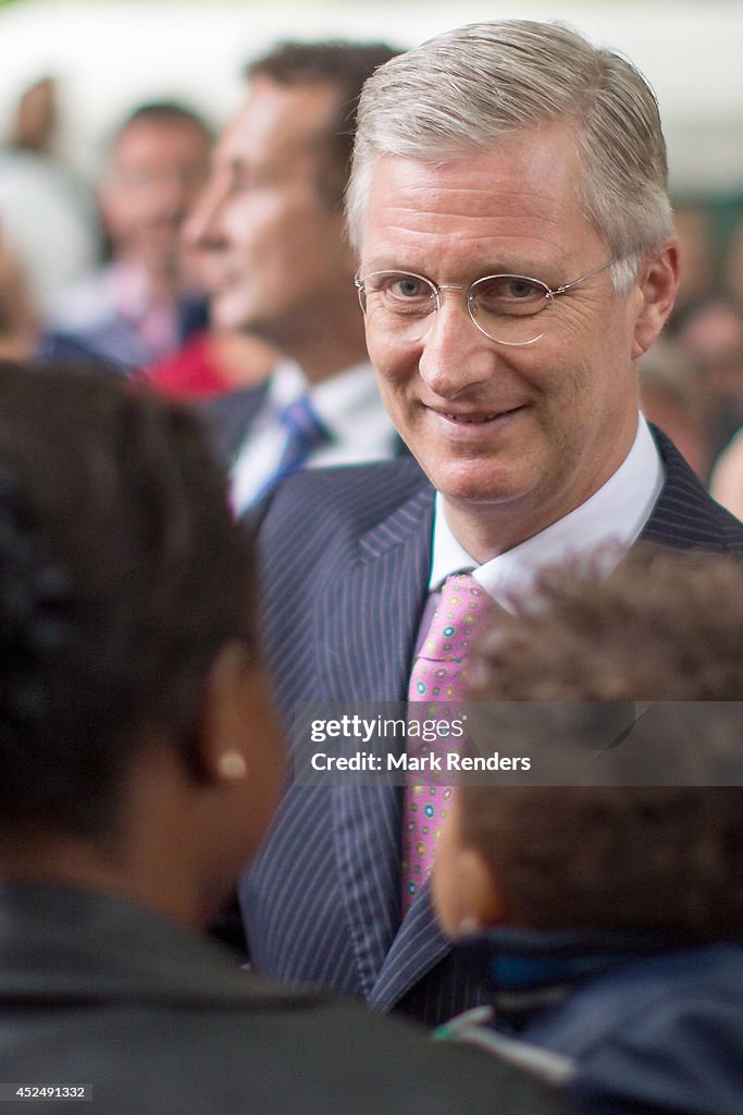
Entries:
<svg viewBox="0 0 743 1115">
<path fill-rule="evenodd" d="M 578 283 L 610 268 L 609 260 L 574 282 L 555 290 L 527 275 L 485 275 L 469 287 L 442 283 L 438 287 L 424 275 L 410 271 L 372 271 L 356 275 L 361 309 L 374 328 L 400 340 L 420 340 L 429 327 L 430 314 L 441 308 L 441 291 L 463 290 L 469 316 L 491 341 L 499 345 L 535 345 L 545 336 L 545 322 L 535 319 L 555 304 Z"/>
</svg>

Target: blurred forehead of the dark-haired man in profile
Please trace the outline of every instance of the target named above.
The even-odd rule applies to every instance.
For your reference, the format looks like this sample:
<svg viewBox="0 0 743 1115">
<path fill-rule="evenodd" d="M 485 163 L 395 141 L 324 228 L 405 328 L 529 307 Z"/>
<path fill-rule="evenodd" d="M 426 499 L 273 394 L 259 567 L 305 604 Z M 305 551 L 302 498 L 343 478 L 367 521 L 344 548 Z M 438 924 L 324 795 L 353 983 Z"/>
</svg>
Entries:
<svg viewBox="0 0 743 1115">
<path fill-rule="evenodd" d="M 323 138 L 338 116 L 339 91 L 327 81 L 283 86 L 255 77 L 247 100 L 219 140 L 217 162 L 289 159 Z"/>
</svg>

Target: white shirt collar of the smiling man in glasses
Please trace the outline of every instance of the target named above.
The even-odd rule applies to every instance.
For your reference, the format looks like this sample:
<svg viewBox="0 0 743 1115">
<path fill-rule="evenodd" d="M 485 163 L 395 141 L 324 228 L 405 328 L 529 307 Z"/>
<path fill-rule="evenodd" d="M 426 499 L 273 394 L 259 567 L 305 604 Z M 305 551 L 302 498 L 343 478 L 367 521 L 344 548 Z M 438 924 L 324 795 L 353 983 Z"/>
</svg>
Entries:
<svg viewBox="0 0 743 1115">
<path fill-rule="evenodd" d="M 663 487 L 663 465 L 644 417 L 639 415 L 633 446 L 608 481 L 585 503 L 538 534 L 478 566 L 447 523 L 441 494 L 436 495 L 433 554 L 429 591 L 451 573 L 473 570 L 498 603 L 528 589 L 537 571 L 600 545 L 617 551 L 632 545 L 647 522 Z"/>
</svg>

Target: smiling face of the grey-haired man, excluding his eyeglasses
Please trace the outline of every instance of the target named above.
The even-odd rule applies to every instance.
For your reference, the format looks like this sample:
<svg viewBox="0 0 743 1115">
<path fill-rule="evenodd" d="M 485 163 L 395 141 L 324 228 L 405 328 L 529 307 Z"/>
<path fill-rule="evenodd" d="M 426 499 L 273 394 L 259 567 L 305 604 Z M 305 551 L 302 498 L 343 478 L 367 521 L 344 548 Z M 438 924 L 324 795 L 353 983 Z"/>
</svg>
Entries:
<svg viewBox="0 0 743 1115">
<path fill-rule="evenodd" d="M 446 163 L 383 155 L 361 274 L 395 269 L 467 287 L 510 273 L 557 288 L 598 268 L 609 251 L 580 211 L 575 149 L 573 129 L 550 125 Z M 392 420 L 478 560 L 567 514 L 626 456 L 637 427 L 635 359 L 662 323 L 645 321 L 646 272 L 655 274 L 645 266 L 624 297 L 606 270 L 559 295 L 539 318 L 544 337 L 525 347 L 479 332 L 461 291 L 443 291 L 416 340 L 366 314 Z M 656 275 L 646 293 L 657 287 Z"/>
</svg>

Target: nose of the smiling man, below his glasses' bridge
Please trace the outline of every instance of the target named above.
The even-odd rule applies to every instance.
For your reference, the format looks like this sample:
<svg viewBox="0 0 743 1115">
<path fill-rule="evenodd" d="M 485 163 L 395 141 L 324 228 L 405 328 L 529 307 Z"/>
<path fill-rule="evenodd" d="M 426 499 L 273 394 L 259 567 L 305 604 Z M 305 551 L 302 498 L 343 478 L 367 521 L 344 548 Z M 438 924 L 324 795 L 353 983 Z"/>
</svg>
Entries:
<svg viewBox="0 0 743 1115">
<path fill-rule="evenodd" d="M 491 378 L 496 346 L 476 329 L 461 287 L 439 290 L 439 309 L 430 314 L 419 342 L 418 369 L 437 396 L 453 399 Z"/>
</svg>

